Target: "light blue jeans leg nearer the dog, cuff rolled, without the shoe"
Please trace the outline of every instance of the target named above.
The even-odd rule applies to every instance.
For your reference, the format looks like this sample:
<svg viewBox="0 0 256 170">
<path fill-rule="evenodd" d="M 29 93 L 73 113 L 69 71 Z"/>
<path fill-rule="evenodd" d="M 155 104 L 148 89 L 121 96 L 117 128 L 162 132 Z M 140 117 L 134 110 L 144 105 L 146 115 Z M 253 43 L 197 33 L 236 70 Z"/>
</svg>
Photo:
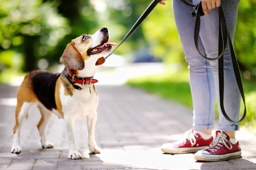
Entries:
<svg viewBox="0 0 256 170">
<path fill-rule="evenodd" d="M 180 0 L 173 0 L 173 13 L 182 43 L 185 59 L 189 65 L 189 83 L 193 101 L 193 128 L 211 132 L 214 127 L 215 84 L 210 62 L 202 58 L 194 43 L 193 8 Z M 200 50 L 204 53 L 202 42 Z"/>
</svg>

